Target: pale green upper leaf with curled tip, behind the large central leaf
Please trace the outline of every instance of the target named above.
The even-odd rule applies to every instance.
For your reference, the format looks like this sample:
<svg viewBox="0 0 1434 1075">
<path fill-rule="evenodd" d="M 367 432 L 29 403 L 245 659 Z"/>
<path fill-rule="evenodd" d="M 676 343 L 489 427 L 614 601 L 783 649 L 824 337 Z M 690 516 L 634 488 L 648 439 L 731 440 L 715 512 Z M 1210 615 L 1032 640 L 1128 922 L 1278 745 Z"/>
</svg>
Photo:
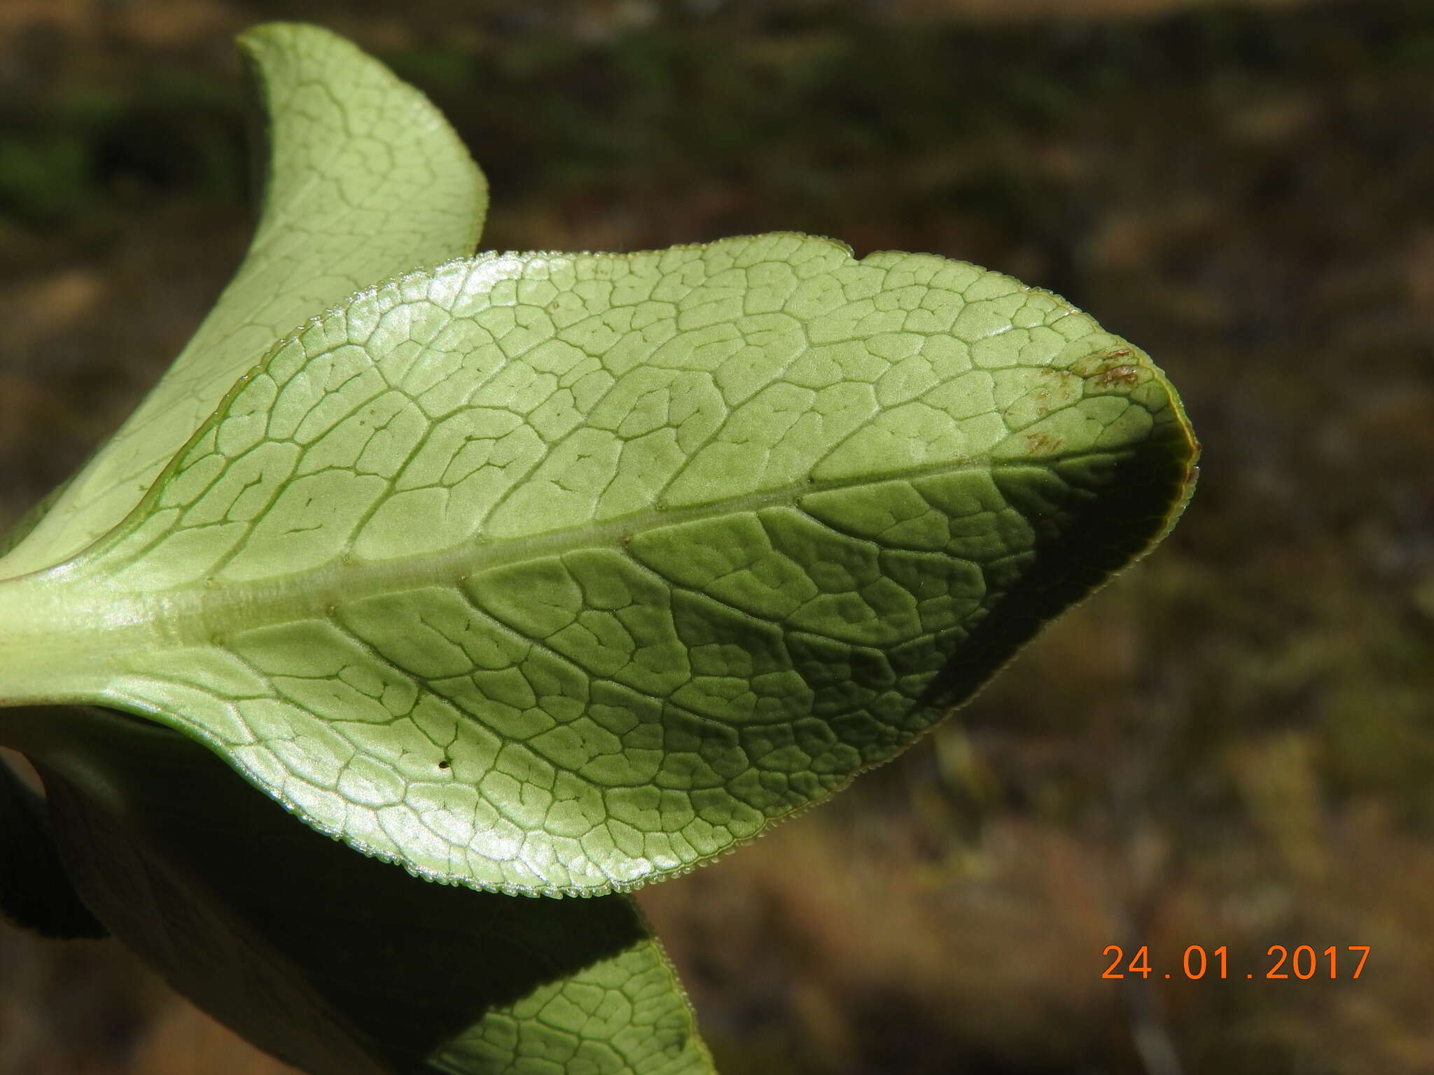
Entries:
<svg viewBox="0 0 1434 1075">
<path fill-rule="evenodd" d="M 47 568 L 113 529 L 229 386 L 305 317 L 478 242 L 486 182 L 422 93 L 315 26 L 261 26 L 239 44 L 271 148 L 244 264 L 139 408 L 49 513 L 29 520 L 33 532 L 0 575 Z"/>
</svg>

